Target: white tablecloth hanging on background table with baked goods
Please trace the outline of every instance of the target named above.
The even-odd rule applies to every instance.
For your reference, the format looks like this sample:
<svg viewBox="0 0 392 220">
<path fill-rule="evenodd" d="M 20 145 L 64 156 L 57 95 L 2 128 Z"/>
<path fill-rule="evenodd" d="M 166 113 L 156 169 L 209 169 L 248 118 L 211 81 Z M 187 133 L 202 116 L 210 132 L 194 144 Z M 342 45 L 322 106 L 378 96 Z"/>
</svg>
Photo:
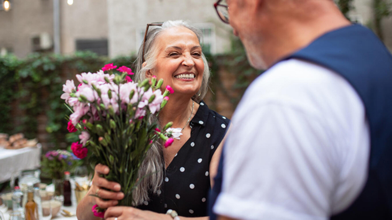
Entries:
<svg viewBox="0 0 392 220">
<path fill-rule="evenodd" d="M 41 148 L 41 144 L 18 150 L 0 148 L 0 183 L 11 179 L 18 171 L 39 168 Z"/>
</svg>

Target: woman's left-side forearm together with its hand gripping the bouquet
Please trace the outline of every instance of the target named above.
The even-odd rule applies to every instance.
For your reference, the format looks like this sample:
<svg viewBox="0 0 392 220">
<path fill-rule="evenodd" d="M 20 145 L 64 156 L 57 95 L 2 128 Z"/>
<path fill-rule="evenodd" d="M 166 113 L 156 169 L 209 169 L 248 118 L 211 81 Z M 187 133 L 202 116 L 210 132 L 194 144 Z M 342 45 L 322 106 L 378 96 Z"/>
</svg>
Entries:
<svg viewBox="0 0 392 220">
<path fill-rule="evenodd" d="M 87 195 L 79 202 L 76 208 L 76 217 L 81 220 L 99 220 L 100 218 L 94 216 L 92 208 L 97 204 L 100 208 L 108 208 L 118 204 L 118 200 L 124 198 L 124 194 L 120 192 L 121 186 L 119 183 L 110 182 L 103 177 L 99 177 L 100 174 L 108 174 L 109 168 L 107 166 L 98 164 L 95 167 L 95 174 L 93 178 L 90 190 Z M 103 189 L 104 188 L 104 189 Z M 99 189 L 99 190 L 98 190 Z M 107 191 L 112 190 L 114 192 Z M 98 193 L 99 198 L 90 196 Z M 102 200 L 109 199 L 107 201 Z"/>
</svg>

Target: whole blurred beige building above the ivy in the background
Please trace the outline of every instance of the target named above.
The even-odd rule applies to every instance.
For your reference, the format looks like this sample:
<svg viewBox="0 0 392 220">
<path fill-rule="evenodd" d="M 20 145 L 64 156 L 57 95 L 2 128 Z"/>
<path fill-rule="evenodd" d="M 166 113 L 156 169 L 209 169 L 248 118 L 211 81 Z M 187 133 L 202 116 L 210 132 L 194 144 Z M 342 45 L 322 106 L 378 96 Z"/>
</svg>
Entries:
<svg viewBox="0 0 392 220">
<path fill-rule="evenodd" d="M 0 0 L 3 3 L 5 0 Z M 385 0 L 388 1 L 388 0 Z M 54 51 L 55 33 L 62 54 L 91 50 L 111 58 L 135 54 L 149 22 L 187 20 L 204 33 L 203 50 L 230 51 L 232 31 L 216 15 L 215 0 L 9 0 L 0 7 L 0 54 L 23 58 Z M 374 0 L 353 0 L 351 20 L 374 27 Z M 3 4 L 1 4 L 3 5 Z M 55 9 L 58 9 L 57 14 Z M 55 30 L 59 18 L 58 31 Z M 383 40 L 392 50 L 392 16 L 381 21 Z"/>
</svg>

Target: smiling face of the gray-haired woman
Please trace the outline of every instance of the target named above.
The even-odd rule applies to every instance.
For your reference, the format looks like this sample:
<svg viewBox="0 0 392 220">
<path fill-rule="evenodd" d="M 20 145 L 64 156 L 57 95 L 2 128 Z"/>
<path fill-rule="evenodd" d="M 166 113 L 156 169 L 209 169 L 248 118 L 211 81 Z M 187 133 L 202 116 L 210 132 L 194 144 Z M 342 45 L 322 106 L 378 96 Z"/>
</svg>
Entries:
<svg viewBox="0 0 392 220">
<path fill-rule="evenodd" d="M 172 27 L 156 39 L 156 66 L 147 72 L 163 79 L 162 88 L 171 86 L 177 94 L 193 96 L 200 89 L 204 63 L 196 34 L 185 27 Z"/>
</svg>

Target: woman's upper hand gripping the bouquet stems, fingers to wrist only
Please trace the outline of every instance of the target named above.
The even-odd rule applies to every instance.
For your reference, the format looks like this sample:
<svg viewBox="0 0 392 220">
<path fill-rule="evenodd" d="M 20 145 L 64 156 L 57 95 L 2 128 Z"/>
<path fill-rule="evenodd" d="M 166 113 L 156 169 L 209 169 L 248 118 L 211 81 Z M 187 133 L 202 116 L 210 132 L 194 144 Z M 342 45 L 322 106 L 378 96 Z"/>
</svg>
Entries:
<svg viewBox="0 0 392 220">
<path fill-rule="evenodd" d="M 98 164 L 97 166 L 95 166 L 95 175 L 91 185 L 92 190 L 90 192 L 93 195 L 99 197 L 95 197 L 99 208 L 106 209 L 117 205 L 119 203 L 118 200 L 124 198 L 124 194 L 120 192 L 121 186 L 119 183 L 108 181 L 107 179 L 100 177 L 100 174 L 109 174 L 109 167 L 102 164 Z M 109 190 L 112 190 L 114 192 L 111 192 Z M 105 201 L 103 199 L 109 200 Z"/>
</svg>

